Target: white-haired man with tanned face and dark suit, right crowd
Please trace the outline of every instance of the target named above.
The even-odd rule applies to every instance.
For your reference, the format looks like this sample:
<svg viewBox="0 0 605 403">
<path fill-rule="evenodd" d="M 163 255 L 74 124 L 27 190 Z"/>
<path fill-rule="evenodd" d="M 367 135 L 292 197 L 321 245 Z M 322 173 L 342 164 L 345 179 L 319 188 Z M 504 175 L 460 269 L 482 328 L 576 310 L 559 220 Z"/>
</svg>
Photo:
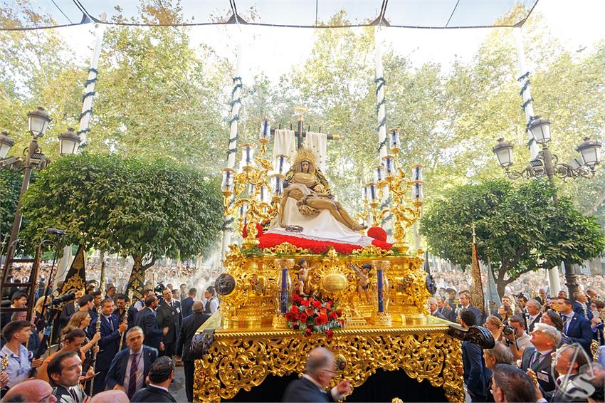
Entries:
<svg viewBox="0 0 605 403">
<path fill-rule="evenodd" d="M 550 366 L 552 352 L 561 342 L 561 333 L 546 323 L 536 323 L 532 332 L 533 347 L 526 347 L 521 358 L 521 369 L 532 370 L 536 374 L 538 384 L 544 392 L 554 390 L 554 379 Z"/>
</svg>

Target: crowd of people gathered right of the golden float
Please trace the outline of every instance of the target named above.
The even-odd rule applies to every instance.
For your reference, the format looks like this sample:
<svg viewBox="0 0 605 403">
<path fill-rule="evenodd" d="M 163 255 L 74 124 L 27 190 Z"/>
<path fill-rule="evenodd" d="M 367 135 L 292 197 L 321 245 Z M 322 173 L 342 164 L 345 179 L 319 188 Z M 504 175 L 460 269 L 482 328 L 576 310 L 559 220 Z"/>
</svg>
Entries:
<svg viewBox="0 0 605 403">
<path fill-rule="evenodd" d="M 483 350 L 472 342 L 462 344 L 461 368 L 473 402 L 604 401 L 600 279 L 584 282 L 570 299 L 566 291 L 549 295 L 543 284 L 533 285 L 532 273 L 511 284 L 495 312 L 481 312 L 471 303 L 468 278 L 446 277 L 448 283 L 429 300 L 431 315 L 466 329 L 483 326 L 495 340 L 493 348 Z"/>
</svg>

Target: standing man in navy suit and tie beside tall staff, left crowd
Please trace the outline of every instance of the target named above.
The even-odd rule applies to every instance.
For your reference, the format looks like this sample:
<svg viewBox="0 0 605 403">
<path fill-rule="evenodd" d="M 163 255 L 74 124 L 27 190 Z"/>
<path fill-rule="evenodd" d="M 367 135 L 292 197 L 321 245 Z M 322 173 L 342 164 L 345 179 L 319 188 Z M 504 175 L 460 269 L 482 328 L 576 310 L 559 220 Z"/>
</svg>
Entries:
<svg viewBox="0 0 605 403">
<path fill-rule="evenodd" d="M 105 375 L 111 366 L 111 362 L 117 354 L 120 347 L 120 337 L 127 329 L 126 323 L 119 323 L 116 315 L 113 314 L 114 303 L 111 298 L 106 298 L 101 303 L 101 315 L 98 320 L 100 323 L 101 338 L 99 340 L 99 352 L 97 353 L 97 362 L 95 371 L 100 372 L 95 377 L 95 387 L 93 394 L 102 392 L 105 389 Z M 88 327 L 88 337 L 90 339 L 95 335 L 97 328 L 96 321 Z"/>
</svg>

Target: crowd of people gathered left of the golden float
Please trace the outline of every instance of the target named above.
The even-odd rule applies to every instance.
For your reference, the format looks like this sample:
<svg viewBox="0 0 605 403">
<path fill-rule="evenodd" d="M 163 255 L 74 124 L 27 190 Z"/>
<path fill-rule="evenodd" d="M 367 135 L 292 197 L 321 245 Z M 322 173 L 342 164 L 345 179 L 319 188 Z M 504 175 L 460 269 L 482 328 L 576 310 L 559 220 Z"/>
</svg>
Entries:
<svg viewBox="0 0 605 403">
<path fill-rule="evenodd" d="M 100 278 L 97 265 L 90 266 L 87 276 Z M 28 269 L 14 268 L 11 281 L 28 281 Z M 182 267 L 159 266 L 154 271 L 157 281 L 186 282 L 173 286 L 147 281 L 142 298 L 131 303 L 124 293 L 124 271 L 116 265 L 106 267 L 104 293 L 97 280 L 90 280 L 73 300 L 44 307 L 45 293 L 50 302 L 63 287 L 60 281 L 54 293 L 47 290 L 48 272 L 45 265 L 31 320 L 25 311 L 2 313 L 2 402 L 83 403 L 90 397 L 91 402 L 176 402 L 167 389 L 175 366 L 184 367 L 187 399 L 193 401 L 189 346 L 196 330 L 219 308 L 214 286 L 206 286 L 217 273 L 187 276 Z M 11 307 L 26 307 L 23 289 L 3 293 Z M 56 347 L 47 352 L 49 345 Z"/>
</svg>

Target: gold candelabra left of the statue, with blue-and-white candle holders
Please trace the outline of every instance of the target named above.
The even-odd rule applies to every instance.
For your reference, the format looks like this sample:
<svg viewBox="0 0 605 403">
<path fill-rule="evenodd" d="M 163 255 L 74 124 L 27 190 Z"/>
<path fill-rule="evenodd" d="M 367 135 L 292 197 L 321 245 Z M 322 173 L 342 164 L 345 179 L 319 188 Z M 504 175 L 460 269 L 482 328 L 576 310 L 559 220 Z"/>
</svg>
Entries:
<svg viewBox="0 0 605 403">
<path fill-rule="evenodd" d="M 271 192 L 268 181 L 271 162 L 264 158 L 269 140 L 267 137 L 262 137 L 259 142 L 261 150 L 256 157 L 253 157 L 253 145 L 248 143 L 242 146 L 241 172 L 236 174 L 234 169 L 223 169 L 222 192 L 225 214 L 231 216 L 239 210 L 240 233 L 243 231 L 243 226 L 247 224 L 246 237 L 242 241 L 243 248 L 253 248 L 258 245 L 256 224 L 269 220 L 277 211 L 280 201 L 277 194 L 273 196 L 271 203 L 265 201 Z M 283 175 L 277 175 L 283 179 Z M 232 201 L 233 196 L 236 197 L 235 201 Z"/>
</svg>

